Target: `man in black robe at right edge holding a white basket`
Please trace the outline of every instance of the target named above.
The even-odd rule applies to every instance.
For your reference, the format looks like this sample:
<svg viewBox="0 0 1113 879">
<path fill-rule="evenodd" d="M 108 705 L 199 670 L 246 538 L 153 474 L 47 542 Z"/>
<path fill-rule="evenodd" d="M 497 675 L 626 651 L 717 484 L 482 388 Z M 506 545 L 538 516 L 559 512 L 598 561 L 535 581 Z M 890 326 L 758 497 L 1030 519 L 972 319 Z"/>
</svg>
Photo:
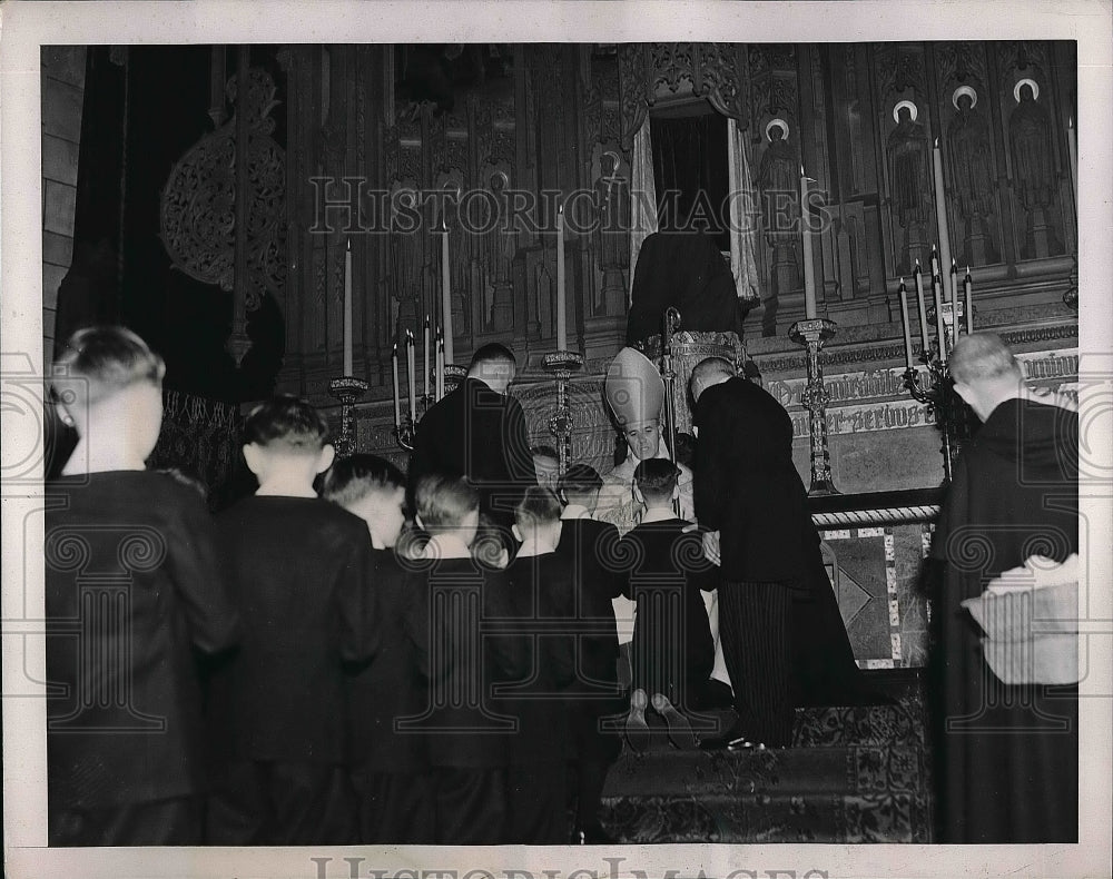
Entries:
<svg viewBox="0 0 1113 879">
<path fill-rule="evenodd" d="M 932 547 L 939 841 L 1074 842 L 1077 684 L 1003 683 L 962 602 L 1032 555 L 1078 551 L 1078 415 L 1027 391 L 991 333 L 959 337 L 948 365 L 984 424 L 962 450 Z"/>
</svg>

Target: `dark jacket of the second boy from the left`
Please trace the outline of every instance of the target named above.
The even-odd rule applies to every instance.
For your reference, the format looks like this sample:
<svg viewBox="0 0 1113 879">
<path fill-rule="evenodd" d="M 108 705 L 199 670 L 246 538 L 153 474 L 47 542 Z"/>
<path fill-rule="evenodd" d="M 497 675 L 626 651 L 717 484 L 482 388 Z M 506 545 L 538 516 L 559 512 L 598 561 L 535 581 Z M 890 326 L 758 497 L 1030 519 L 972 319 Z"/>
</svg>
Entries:
<svg viewBox="0 0 1113 879">
<path fill-rule="evenodd" d="M 236 760 L 339 763 L 345 665 L 380 630 L 367 525 L 309 497 L 246 497 L 217 517 L 244 636 L 213 681 L 213 733 Z"/>
</svg>

